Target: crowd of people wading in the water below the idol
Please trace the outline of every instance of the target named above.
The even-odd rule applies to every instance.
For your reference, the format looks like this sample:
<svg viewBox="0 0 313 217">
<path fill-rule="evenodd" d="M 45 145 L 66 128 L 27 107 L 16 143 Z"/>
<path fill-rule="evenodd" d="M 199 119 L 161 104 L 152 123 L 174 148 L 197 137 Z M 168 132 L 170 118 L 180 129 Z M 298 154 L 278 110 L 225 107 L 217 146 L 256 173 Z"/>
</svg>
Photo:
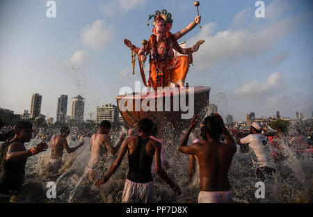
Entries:
<svg viewBox="0 0 313 217">
<path fill-rule="evenodd" d="M 266 136 L 262 134 L 262 124 L 253 122 L 250 126 L 250 134 L 243 135 L 239 130 L 227 130 L 218 113 L 204 118 L 200 122 L 200 127 L 196 128 L 199 118 L 200 115 L 195 115 L 191 120 L 182 140 L 177 144 L 177 149 L 189 156 L 190 180 L 193 179 L 195 166 L 198 165 L 200 176 L 198 202 L 200 203 L 234 202 L 228 171 L 236 153 L 236 144 L 246 146 L 255 153 L 257 158 L 255 176 L 259 181 L 275 175 L 277 172 L 275 163 L 283 161 L 286 157 L 280 144 L 280 139 L 286 138 L 287 131 L 284 128 L 278 128 L 274 136 Z M 102 121 L 96 134 L 91 134 L 93 130 L 85 131 L 85 135 L 90 137 L 90 160 L 86 166 L 86 174 L 96 188 L 108 182 L 128 153 L 129 170 L 122 193 L 122 202 L 153 202 L 152 169 L 169 185 L 175 196 L 182 194 L 177 183 L 173 182 L 163 169 L 168 166 L 168 162 L 164 154 L 163 142 L 157 138 L 157 124 L 152 120 L 141 119 L 136 129 L 138 134 L 135 135 L 134 129 L 129 129 L 128 136 L 121 134 L 116 145 L 109 134 L 111 130 L 109 121 Z M 193 131 L 197 139 L 188 145 L 188 138 Z M 58 172 L 62 166 L 63 151 L 75 152 L 84 145 L 81 140 L 83 136 L 78 134 L 79 145 L 70 147 L 66 140 L 69 134 L 70 128 L 66 126 L 61 127 L 58 134 L 53 130 L 45 134 L 27 121 L 2 127 L 1 140 L 4 143 L 0 146 L 0 200 L 8 202 L 10 195 L 18 193 L 24 183 L 26 160 L 35 154 L 45 152 L 48 148 L 47 140 L 50 141 L 51 150 L 50 170 Z M 35 136 L 41 137 L 42 141 L 26 150 L 24 143 Z M 309 149 L 312 152 L 312 140 L 303 134 L 298 133 L 291 140 L 295 150 L 303 150 L 301 147 L 304 145 L 305 150 Z M 108 153 L 117 155 L 117 158 L 111 168 L 106 170 L 102 164 L 106 162 Z"/>
</svg>

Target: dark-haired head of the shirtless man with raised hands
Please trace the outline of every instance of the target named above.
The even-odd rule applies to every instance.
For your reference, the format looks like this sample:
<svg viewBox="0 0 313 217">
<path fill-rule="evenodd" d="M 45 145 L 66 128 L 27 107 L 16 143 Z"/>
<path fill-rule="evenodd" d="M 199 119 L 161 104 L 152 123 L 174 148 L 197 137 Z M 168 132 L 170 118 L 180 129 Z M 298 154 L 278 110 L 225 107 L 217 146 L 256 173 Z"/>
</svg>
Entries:
<svg viewBox="0 0 313 217">
<path fill-rule="evenodd" d="M 223 133 L 223 122 L 217 115 L 209 115 L 207 118 L 204 118 L 202 124 L 201 137 L 204 140 L 208 140 L 208 138 L 213 140 L 220 139 L 220 134 Z"/>
</svg>

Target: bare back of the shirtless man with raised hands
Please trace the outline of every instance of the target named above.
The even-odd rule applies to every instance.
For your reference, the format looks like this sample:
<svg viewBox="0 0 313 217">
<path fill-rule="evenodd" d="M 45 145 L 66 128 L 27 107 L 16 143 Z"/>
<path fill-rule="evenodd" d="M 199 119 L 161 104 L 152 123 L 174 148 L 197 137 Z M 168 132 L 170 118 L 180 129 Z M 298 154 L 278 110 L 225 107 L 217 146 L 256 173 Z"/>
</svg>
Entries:
<svg viewBox="0 0 313 217">
<path fill-rule="evenodd" d="M 234 145 L 201 140 L 195 143 L 200 167 L 201 191 L 229 191 L 228 170 L 236 152 Z"/>
</svg>

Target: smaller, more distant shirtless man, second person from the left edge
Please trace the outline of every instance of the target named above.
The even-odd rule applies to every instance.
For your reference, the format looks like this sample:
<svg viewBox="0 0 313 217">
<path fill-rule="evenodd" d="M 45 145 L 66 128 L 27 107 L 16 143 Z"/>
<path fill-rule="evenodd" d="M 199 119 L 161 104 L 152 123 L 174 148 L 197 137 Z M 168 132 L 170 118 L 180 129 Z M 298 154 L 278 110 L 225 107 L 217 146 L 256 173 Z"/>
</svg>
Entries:
<svg viewBox="0 0 313 217">
<path fill-rule="evenodd" d="M 70 134 L 70 129 L 68 127 L 61 127 L 60 134 L 54 136 L 51 139 L 50 149 L 51 149 L 51 157 L 50 157 L 50 168 L 51 172 L 58 172 L 58 170 L 62 167 L 62 156 L 63 150 L 67 153 L 72 153 L 79 149 L 81 145 L 84 143 L 80 143 L 76 147 L 70 147 L 67 144 L 66 137 Z"/>
</svg>

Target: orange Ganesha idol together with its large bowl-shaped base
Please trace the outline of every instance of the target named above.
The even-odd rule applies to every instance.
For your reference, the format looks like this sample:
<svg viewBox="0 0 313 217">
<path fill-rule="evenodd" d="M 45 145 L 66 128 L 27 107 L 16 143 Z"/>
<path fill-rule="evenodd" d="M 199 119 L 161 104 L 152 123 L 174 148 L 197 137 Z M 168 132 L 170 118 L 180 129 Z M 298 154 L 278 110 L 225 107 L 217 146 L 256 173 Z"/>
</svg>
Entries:
<svg viewBox="0 0 313 217">
<path fill-rule="evenodd" d="M 179 132 L 188 127 L 190 123 L 188 118 L 193 117 L 194 114 L 203 113 L 204 108 L 209 104 L 211 88 L 188 87 L 188 85 L 185 88 L 189 65 L 193 63 L 192 54 L 198 51 L 204 40 L 198 41 L 193 47 L 187 49 L 180 47 L 177 42 L 179 38 L 200 23 L 201 17 L 198 15 L 186 28 L 172 34 L 170 32 L 172 29 L 171 16 L 166 10 L 161 10 L 161 12 L 157 10 L 154 15 L 149 15 L 149 19 L 154 17 L 154 28 L 149 40 L 143 40 L 141 48 L 132 45 L 131 41 L 127 39 L 124 40 L 125 45 L 131 49 L 133 74 L 138 54 L 143 83 L 152 88 L 143 88 L 143 91 L 140 92 L 118 95 L 116 100 L 118 111 L 129 128 L 136 129 L 139 120 L 150 118 L 158 126 L 158 138 L 177 140 Z M 175 56 L 174 50 L 182 55 Z M 147 56 L 149 56 L 149 79 L 146 81 L 143 64 Z M 172 86 L 171 83 L 175 84 L 175 88 L 167 88 Z M 168 106 L 166 106 L 167 102 Z M 144 109 L 143 104 L 149 104 L 149 106 L 145 106 Z M 175 131 L 175 133 L 168 133 L 170 131 Z M 177 138 L 172 138 L 172 136 Z"/>
</svg>

